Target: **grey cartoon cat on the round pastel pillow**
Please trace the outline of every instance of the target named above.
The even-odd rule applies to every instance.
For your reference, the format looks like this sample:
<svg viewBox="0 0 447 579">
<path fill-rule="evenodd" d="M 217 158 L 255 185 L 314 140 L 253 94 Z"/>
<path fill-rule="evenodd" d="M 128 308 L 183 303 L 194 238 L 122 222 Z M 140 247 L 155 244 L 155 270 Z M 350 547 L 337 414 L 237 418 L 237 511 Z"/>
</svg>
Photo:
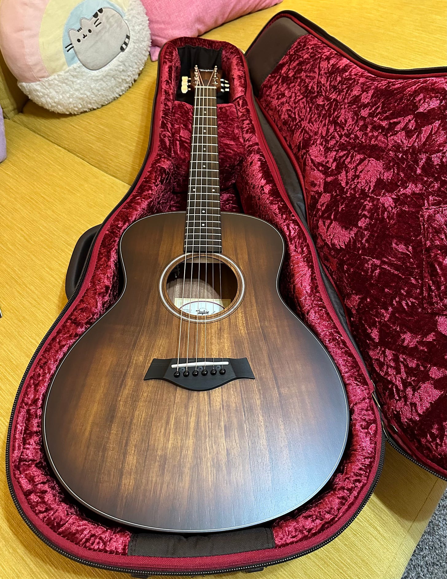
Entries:
<svg viewBox="0 0 447 579">
<path fill-rule="evenodd" d="M 68 36 L 71 44 L 65 49 L 73 49 L 84 67 L 96 71 L 127 49 L 130 30 L 119 12 L 99 8 L 90 20 L 82 18 L 80 28 L 71 28 Z"/>
</svg>

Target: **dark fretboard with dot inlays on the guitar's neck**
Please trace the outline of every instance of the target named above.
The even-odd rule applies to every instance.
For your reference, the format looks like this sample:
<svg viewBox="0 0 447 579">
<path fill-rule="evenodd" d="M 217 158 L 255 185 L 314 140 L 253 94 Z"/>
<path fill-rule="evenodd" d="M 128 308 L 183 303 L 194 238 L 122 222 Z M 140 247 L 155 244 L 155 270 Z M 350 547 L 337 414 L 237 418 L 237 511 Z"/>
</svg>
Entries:
<svg viewBox="0 0 447 579">
<path fill-rule="evenodd" d="M 184 248 L 186 252 L 222 251 L 216 88 L 212 86 L 195 88 Z"/>
</svg>

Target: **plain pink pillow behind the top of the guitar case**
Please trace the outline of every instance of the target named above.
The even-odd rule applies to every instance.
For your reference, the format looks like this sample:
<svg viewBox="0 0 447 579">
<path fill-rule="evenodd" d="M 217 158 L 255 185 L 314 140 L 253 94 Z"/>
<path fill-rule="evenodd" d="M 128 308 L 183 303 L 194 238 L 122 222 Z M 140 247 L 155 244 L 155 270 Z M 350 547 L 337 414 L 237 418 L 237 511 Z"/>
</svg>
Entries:
<svg viewBox="0 0 447 579">
<path fill-rule="evenodd" d="M 282 0 L 142 0 L 149 17 L 152 46 L 157 60 L 165 42 L 178 36 L 200 36 L 207 30 L 244 14 L 279 4 Z"/>
</svg>

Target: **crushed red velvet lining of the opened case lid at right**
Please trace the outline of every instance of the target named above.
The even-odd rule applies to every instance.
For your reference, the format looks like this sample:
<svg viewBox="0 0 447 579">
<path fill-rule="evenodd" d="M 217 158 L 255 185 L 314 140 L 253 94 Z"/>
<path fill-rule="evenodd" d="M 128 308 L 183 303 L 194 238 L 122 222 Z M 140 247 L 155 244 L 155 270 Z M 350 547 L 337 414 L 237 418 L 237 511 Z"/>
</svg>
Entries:
<svg viewBox="0 0 447 579">
<path fill-rule="evenodd" d="M 311 34 L 259 95 L 304 177 L 309 225 L 386 423 L 444 475 L 446 97 L 445 77 L 380 78 Z"/>
</svg>

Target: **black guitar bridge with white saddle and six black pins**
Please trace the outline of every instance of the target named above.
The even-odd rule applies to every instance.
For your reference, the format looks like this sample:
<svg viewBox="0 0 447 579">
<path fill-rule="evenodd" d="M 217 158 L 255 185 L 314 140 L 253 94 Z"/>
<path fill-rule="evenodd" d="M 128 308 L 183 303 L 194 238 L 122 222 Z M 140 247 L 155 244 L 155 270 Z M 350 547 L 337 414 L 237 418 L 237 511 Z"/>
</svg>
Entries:
<svg viewBox="0 0 447 579">
<path fill-rule="evenodd" d="M 154 358 L 145 380 L 167 380 L 187 390 L 213 390 L 232 380 L 254 380 L 247 358 Z"/>
</svg>

